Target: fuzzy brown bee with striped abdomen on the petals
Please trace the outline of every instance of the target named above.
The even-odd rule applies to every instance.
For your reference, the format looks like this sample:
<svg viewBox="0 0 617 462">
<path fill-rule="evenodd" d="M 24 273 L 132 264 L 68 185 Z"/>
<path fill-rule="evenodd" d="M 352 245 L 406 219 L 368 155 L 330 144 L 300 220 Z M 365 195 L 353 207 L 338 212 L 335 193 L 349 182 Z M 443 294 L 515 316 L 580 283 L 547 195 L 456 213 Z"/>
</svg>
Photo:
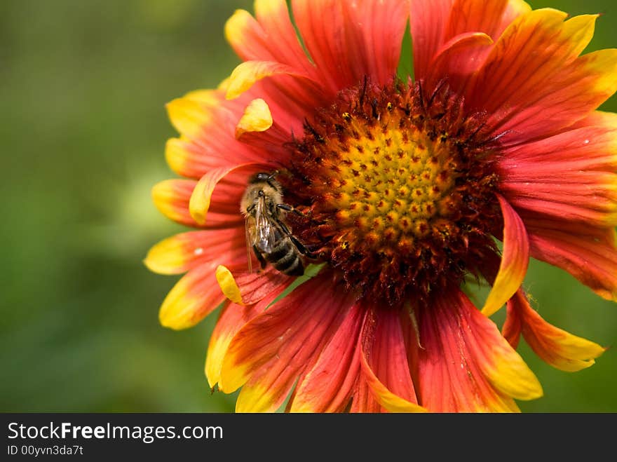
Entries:
<svg viewBox="0 0 617 462">
<path fill-rule="evenodd" d="M 252 249 L 262 269 L 269 262 L 287 276 L 302 276 L 301 256 L 309 252 L 284 221 L 287 212 L 302 213 L 283 203 L 282 188 L 274 179 L 276 173 L 259 172 L 250 177 L 240 201 L 240 211 L 245 217 L 249 272 L 252 272 Z"/>
</svg>

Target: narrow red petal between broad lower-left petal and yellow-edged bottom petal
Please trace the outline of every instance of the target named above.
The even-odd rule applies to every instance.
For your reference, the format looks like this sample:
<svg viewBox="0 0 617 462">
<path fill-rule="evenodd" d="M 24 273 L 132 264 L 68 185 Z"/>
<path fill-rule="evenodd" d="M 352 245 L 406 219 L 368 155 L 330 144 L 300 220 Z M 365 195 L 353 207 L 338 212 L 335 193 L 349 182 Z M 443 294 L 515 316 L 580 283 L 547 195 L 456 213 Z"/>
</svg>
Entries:
<svg viewBox="0 0 617 462">
<path fill-rule="evenodd" d="M 301 376 L 290 412 L 343 412 L 360 374 L 357 348 L 364 310 L 354 304 L 315 364 Z"/>
</svg>

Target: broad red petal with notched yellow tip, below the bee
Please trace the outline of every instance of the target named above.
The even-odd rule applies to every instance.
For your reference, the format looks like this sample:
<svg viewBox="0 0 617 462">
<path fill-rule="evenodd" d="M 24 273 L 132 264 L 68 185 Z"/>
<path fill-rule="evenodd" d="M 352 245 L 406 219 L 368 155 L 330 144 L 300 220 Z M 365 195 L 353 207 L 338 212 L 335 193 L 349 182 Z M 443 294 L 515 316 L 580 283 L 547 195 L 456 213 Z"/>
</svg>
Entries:
<svg viewBox="0 0 617 462">
<path fill-rule="evenodd" d="M 233 337 L 219 387 L 229 393 L 243 386 L 236 411 L 276 410 L 298 376 L 316 362 L 351 306 L 348 294 L 322 285 L 323 278 L 308 280 Z"/>
</svg>

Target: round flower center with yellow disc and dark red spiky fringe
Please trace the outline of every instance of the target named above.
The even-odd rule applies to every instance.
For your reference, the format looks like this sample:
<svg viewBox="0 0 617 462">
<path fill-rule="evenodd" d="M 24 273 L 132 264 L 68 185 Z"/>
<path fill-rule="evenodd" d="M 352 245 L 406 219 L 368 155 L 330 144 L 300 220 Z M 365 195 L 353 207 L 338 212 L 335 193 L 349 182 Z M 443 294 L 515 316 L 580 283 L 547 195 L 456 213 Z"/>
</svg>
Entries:
<svg viewBox="0 0 617 462">
<path fill-rule="evenodd" d="M 292 142 L 285 198 L 307 211 L 294 233 L 363 297 L 398 304 L 460 283 L 501 222 L 499 146 L 483 126 L 447 89 L 346 90 Z"/>
</svg>

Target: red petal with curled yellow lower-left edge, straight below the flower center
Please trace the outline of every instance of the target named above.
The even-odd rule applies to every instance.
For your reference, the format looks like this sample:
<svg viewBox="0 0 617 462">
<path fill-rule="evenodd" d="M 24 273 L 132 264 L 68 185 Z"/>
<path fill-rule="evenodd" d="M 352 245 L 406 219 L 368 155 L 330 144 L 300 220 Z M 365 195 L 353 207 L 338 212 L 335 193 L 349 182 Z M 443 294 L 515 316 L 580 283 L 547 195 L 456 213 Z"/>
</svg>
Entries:
<svg viewBox="0 0 617 462">
<path fill-rule="evenodd" d="M 416 398 L 398 311 L 369 311 L 358 348 L 362 374 L 381 407 L 388 412 L 426 412 Z"/>
</svg>

